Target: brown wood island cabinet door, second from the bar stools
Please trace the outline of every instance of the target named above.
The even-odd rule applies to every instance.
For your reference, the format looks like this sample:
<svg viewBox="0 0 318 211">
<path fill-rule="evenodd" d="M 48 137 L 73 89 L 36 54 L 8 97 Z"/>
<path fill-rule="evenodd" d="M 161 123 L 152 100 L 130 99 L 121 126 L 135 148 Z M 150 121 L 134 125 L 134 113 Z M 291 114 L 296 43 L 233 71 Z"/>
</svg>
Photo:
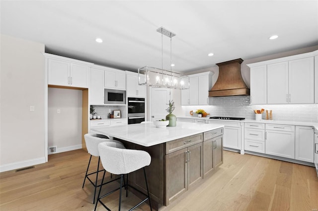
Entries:
<svg viewBox="0 0 318 211">
<path fill-rule="evenodd" d="M 203 143 L 188 147 L 188 189 L 203 179 Z"/>
</svg>

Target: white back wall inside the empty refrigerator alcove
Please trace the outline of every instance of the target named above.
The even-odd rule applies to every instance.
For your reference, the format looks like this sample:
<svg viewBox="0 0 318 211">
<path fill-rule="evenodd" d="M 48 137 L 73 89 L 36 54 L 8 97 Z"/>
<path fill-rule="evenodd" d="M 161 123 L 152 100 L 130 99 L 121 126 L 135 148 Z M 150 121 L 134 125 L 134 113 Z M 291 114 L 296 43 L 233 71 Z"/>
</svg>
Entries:
<svg viewBox="0 0 318 211">
<path fill-rule="evenodd" d="M 48 147 L 56 153 L 81 149 L 81 109 L 81 90 L 48 89 Z"/>
</svg>

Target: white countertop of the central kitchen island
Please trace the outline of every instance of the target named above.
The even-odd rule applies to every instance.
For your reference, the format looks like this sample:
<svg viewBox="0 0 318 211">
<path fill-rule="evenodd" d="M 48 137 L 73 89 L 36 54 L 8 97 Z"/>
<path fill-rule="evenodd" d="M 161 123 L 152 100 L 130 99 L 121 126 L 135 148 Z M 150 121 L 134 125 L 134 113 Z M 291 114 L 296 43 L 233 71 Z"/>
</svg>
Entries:
<svg viewBox="0 0 318 211">
<path fill-rule="evenodd" d="M 145 147 L 224 127 L 222 124 L 177 122 L 176 127 L 157 128 L 152 122 L 91 128 L 92 131 Z"/>
</svg>

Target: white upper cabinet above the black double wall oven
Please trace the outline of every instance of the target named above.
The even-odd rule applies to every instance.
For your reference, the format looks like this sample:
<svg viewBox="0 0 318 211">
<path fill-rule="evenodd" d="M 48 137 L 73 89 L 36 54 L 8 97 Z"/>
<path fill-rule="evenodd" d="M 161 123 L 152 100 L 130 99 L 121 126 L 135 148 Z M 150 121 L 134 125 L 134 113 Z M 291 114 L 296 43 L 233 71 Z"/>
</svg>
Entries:
<svg viewBox="0 0 318 211">
<path fill-rule="evenodd" d="M 144 76 L 140 76 L 142 80 Z M 146 97 L 146 86 L 139 85 L 138 73 L 126 71 L 127 97 Z"/>
</svg>

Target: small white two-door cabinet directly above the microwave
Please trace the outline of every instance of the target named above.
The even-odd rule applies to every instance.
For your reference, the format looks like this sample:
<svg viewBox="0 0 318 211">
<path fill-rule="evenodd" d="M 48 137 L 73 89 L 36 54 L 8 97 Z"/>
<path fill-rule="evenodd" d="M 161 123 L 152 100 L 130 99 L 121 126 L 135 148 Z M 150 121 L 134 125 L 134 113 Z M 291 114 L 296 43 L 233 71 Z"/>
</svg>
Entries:
<svg viewBox="0 0 318 211">
<path fill-rule="evenodd" d="M 105 88 L 126 90 L 125 71 L 106 68 L 105 70 Z"/>
</svg>

